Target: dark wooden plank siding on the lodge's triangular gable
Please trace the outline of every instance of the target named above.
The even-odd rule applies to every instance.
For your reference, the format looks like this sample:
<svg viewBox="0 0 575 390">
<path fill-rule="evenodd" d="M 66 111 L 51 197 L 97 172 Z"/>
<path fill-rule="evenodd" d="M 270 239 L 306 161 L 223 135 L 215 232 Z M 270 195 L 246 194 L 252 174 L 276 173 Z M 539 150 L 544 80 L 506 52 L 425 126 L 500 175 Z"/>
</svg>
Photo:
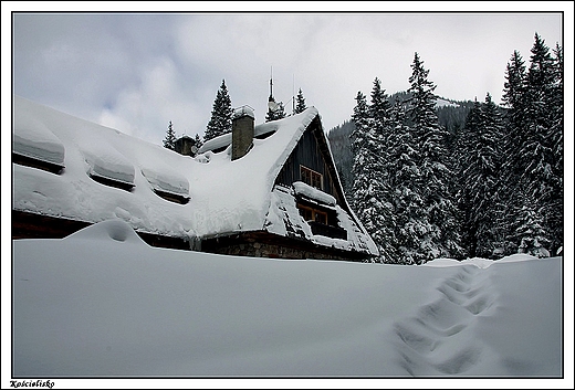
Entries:
<svg viewBox="0 0 575 390">
<path fill-rule="evenodd" d="M 330 156 L 327 140 L 317 117 L 305 129 L 278 175 L 275 183 L 290 187 L 294 181 L 302 181 L 301 166 L 322 173 L 323 191 L 334 197 L 339 207 L 349 211 L 345 205 L 344 194 L 337 182 L 335 165 Z"/>
</svg>

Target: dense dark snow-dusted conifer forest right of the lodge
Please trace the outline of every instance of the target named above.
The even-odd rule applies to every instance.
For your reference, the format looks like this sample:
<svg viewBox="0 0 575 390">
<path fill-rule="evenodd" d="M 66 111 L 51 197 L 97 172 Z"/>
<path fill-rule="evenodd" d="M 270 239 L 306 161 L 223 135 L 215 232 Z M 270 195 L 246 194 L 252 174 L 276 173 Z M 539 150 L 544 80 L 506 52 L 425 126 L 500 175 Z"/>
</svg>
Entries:
<svg viewBox="0 0 575 390">
<path fill-rule="evenodd" d="M 411 71 L 391 95 L 376 77 L 328 135 L 378 261 L 562 255 L 563 49 L 535 33 L 529 59 L 512 53 L 501 105 L 489 92 L 439 105 L 418 53 Z"/>
</svg>

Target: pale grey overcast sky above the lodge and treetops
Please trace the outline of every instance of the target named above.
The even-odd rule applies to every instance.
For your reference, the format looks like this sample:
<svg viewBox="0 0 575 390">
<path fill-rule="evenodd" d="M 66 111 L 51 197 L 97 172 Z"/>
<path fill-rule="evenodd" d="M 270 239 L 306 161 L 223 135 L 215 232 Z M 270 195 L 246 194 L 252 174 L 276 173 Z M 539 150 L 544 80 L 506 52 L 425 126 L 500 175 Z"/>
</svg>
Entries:
<svg viewBox="0 0 575 390">
<path fill-rule="evenodd" d="M 514 50 L 529 64 L 535 32 L 563 45 L 561 13 L 519 11 L 14 13 L 12 23 L 14 94 L 156 144 L 169 120 L 178 136 L 202 135 L 222 80 L 258 124 L 273 70 L 286 112 L 302 88 L 328 130 L 375 77 L 389 94 L 407 89 L 415 52 L 438 95 L 500 102 Z"/>
</svg>

